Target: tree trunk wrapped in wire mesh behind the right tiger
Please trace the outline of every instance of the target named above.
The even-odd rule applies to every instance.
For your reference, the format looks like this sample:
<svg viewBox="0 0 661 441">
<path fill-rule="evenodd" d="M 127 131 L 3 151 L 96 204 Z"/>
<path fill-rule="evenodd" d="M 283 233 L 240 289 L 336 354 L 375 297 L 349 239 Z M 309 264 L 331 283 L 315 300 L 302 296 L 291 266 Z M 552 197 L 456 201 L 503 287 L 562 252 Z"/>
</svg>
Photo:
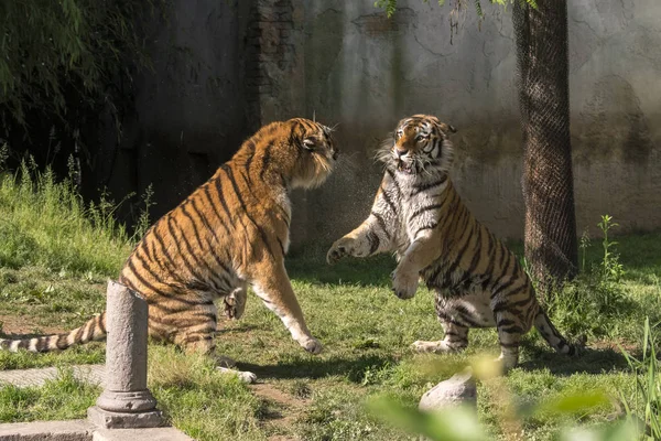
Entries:
<svg viewBox="0 0 661 441">
<path fill-rule="evenodd" d="M 514 0 L 513 25 L 523 135 L 525 259 L 538 293 L 577 270 L 566 0 Z"/>
</svg>

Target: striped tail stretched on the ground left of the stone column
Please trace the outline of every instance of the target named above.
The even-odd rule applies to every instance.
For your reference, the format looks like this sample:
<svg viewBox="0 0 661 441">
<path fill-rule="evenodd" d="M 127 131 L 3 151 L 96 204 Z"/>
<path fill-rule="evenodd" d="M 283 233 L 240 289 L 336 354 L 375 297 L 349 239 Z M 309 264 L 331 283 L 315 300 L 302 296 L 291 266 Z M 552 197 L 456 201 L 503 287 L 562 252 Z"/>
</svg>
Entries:
<svg viewBox="0 0 661 441">
<path fill-rule="evenodd" d="M 40 335 L 29 338 L 0 338 L 0 351 L 51 352 L 63 351 L 76 344 L 106 338 L 106 312 L 96 315 L 83 326 L 63 334 Z"/>
</svg>

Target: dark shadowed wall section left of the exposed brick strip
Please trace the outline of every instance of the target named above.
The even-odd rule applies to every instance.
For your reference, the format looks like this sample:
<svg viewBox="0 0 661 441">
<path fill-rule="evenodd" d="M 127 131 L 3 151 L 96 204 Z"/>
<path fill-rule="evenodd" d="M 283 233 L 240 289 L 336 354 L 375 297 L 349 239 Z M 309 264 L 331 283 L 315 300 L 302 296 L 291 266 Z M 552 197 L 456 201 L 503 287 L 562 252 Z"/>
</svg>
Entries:
<svg viewBox="0 0 661 441">
<path fill-rule="evenodd" d="M 174 0 L 144 24 L 151 72 L 137 77 L 136 114 L 109 140 L 98 174 L 113 195 L 153 184 L 161 216 L 206 181 L 249 135 L 246 35 L 250 1 Z"/>
</svg>

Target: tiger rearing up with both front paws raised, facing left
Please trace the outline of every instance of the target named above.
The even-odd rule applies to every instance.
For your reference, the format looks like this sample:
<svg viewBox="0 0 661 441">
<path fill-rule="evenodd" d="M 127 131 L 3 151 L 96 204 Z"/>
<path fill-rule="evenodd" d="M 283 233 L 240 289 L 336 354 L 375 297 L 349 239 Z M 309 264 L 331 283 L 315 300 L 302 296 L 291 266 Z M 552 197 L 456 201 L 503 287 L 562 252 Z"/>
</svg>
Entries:
<svg viewBox="0 0 661 441">
<path fill-rule="evenodd" d="M 448 176 L 449 132 L 455 132 L 452 126 L 429 115 L 399 122 L 378 154 L 386 173 L 371 213 L 333 244 L 328 263 L 395 251 L 394 293 L 412 298 L 421 277 L 435 292 L 445 331 L 442 341 L 413 343 L 416 351 L 460 351 L 468 344 L 468 329 L 496 326 L 499 361 L 509 369 L 519 362 L 521 336 L 534 324 L 557 352 L 574 354 L 541 309 L 514 255 L 473 217 L 455 191 Z"/>
</svg>

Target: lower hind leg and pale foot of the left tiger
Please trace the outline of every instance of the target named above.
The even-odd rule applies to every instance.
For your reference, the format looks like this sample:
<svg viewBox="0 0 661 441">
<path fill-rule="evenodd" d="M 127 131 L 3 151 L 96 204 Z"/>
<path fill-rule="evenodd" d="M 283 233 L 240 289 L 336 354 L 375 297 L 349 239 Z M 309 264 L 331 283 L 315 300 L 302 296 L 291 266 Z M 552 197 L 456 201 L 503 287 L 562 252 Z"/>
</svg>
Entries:
<svg viewBox="0 0 661 441">
<path fill-rule="evenodd" d="M 201 303 L 181 312 L 170 313 L 163 321 L 177 329 L 172 338 L 174 344 L 183 347 L 187 353 L 212 357 L 216 362 L 216 368 L 223 373 L 236 375 L 245 383 L 254 383 L 257 375 L 247 370 L 237 370 L 234 368 L 236 365 L 234 359 L 215 354 L 216 320 L 216 305 Z"/>
</svg>

